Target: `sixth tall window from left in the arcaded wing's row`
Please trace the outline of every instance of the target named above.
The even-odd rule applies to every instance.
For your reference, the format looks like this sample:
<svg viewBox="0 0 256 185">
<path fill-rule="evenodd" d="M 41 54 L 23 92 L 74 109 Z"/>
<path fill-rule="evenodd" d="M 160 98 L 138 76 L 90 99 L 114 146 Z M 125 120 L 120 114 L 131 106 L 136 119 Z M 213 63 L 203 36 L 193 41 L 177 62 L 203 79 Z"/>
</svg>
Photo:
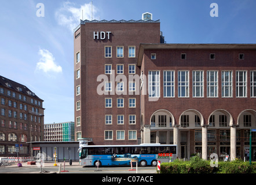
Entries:
<svg viewBox="0 0 256 185">
<path fill-rule="evenodd" d="M 232 71 L 221 72 L 222 97 L 232 97 Z"/>
</svg>

